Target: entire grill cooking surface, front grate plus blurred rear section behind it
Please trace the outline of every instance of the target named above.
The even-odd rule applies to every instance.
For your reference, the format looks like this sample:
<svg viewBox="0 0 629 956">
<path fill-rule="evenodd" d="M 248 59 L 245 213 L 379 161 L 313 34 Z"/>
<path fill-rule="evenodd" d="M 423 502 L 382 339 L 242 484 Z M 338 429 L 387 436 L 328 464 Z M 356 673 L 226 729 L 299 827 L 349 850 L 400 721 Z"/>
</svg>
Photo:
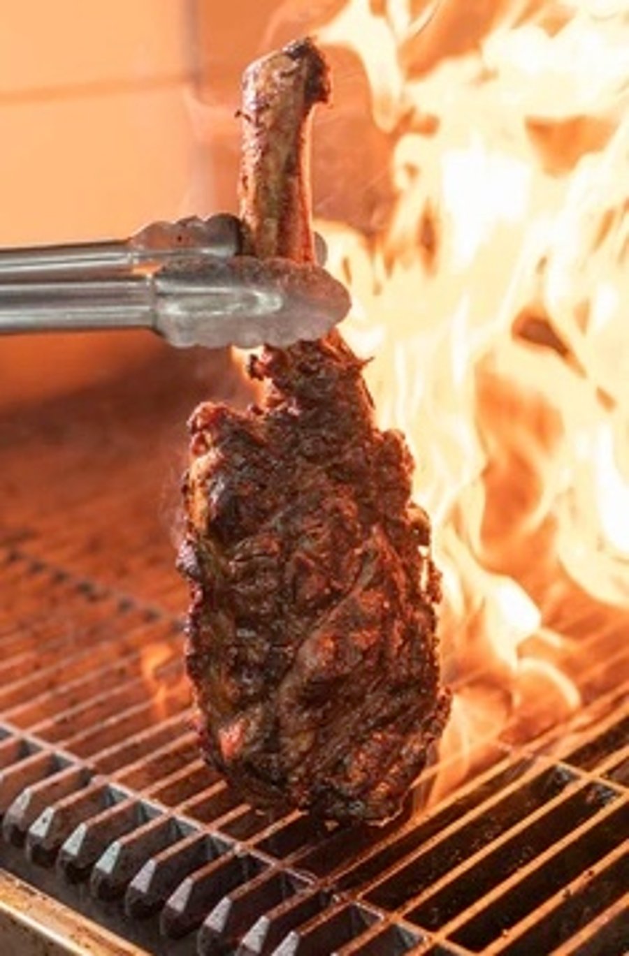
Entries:
<svg viewBox="0 0 629 956">
<path fill-rule="evenodd" d="M 428 815 L 259 815 L 198 758 L 156 517 L 195 360 L 2 425 L 0 864 L 177 956 L 626 952 L 626 621 L 593 620 L 568 727 L 507 728 Z"/>
</svg>

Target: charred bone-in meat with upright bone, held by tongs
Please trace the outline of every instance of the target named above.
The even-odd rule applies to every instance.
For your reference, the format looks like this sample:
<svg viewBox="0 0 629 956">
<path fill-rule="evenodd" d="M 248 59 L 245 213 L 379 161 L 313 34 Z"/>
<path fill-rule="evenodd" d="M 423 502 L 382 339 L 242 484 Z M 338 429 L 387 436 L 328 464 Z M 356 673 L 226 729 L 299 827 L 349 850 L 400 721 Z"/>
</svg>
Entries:
<svg viewBox="0 0 629 956">
<path fill-rule="evenodd" d="M 313 259 L 307 118 L 329 93 L 303 40 L 244 77 L 246 251 Z M 179 566 L 202 750 L 254 806 L 397 813 L 447 720 L 439 575 L 402 435 L 380 431 L 338 331 L 265 347 L 246 412 L 192 414 Z"/>
</svg>

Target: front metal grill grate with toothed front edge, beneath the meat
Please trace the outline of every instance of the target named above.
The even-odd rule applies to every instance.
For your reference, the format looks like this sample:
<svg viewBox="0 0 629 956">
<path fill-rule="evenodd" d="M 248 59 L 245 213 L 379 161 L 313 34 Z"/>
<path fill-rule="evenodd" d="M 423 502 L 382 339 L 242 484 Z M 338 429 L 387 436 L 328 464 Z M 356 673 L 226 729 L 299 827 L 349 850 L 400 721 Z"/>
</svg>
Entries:
<svg viewBox="0 0 629 956">
<path fill-rule="evenodd" d="M 429 815 L 376 831 L 273 819 L 197 756 L 176 620 L 14 549 L 3 560 L 19 569 L 13 620 L 35 592 L 47 627 L 61 600 L 87 622 L 56 632 L 55 654 L 23 623 L 0 634 L 2 859 L 17 876 L 155 952 L 623 951 L 623 688 L 572 732 L 497 746 Z"/>
</svg>

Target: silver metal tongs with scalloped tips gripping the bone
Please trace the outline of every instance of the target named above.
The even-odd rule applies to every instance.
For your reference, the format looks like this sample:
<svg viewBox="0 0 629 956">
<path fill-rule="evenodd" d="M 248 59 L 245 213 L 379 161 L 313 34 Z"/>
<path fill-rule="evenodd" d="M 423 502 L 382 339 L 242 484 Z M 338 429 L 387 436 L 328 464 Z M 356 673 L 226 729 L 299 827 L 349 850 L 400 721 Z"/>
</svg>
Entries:
<svg viewBox="0 0 629 956">
<path fill-rule="evenodd" d="M 319 266 L 239 254 L 219 213 L 156 222 L 129 239 L 0 250 L 0 334 L 146 328 L 184 347 L 287 345 L 348 312 Z"/>
</svg>

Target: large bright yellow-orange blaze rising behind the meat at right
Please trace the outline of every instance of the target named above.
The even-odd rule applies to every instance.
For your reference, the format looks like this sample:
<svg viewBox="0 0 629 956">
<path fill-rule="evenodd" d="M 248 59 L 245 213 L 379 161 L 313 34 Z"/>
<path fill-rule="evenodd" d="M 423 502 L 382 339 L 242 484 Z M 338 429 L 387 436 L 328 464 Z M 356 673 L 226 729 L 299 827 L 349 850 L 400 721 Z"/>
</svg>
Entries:
<svg viewBox="0 0 629 956">
<path fill-rule="evenodd" d="M 318 228 L 435 525 L 436 793 L 579 706 L 559 602 L 629 607 L 629 3 L 463 7 L 348 0 L 319 32 L 391 142 L 384 228 Z"/>
</svg>

